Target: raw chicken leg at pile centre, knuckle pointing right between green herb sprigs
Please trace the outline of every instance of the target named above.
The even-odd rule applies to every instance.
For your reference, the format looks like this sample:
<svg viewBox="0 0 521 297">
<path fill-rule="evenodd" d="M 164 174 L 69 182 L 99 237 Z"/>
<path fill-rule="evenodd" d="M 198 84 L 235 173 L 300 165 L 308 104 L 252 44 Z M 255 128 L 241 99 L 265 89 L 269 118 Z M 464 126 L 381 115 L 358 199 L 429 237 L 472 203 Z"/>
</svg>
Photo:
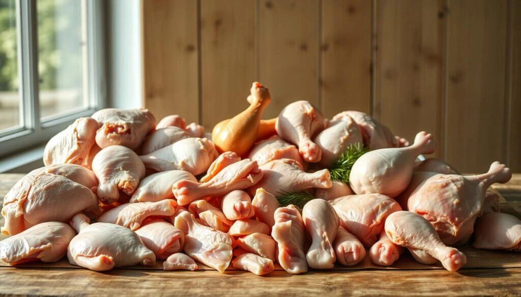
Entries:
<svg viewBox="0 0 521 297">
<path fill-rule="evenodd" d="M 281 159 L 259 166 L 264 176 L 248 190 L 254 195 L 258 188 L 264 188 L 272 195 L 280 192 L 303 191 L 310 188 L 331 187 L 331 175 L 327 169 L 307 173 L 299 162 L 291 159 Z"/>
</svg>

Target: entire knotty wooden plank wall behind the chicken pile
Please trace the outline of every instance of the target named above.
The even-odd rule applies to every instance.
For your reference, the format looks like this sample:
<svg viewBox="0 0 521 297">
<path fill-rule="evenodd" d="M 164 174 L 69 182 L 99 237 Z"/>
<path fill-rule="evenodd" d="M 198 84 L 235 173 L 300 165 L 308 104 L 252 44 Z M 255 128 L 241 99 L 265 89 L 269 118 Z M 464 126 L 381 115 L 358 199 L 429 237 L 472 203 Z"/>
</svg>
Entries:
<svg viewBox="0 0 521 297">
<path fill-rule="evenodd" d="M 207 130 L 270 88 L 398 135 L 435 135 L 463 172 L 521 172 L 520 0 L 142 1 L 144 105 Z"/>
</svg>

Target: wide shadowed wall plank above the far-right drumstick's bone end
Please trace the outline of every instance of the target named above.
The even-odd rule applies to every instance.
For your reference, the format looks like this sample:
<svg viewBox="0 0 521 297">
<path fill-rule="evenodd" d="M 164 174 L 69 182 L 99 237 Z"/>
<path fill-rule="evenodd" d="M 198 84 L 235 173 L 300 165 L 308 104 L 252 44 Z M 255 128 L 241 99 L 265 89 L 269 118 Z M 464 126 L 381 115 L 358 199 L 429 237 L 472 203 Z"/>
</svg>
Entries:
<svg viewBox="0 0 521 297">
<path fill-rule="evenodd" d="M 505 161 L 506 0 L 448 2 L 445 159 L 482 172 Z"/>
</svg>

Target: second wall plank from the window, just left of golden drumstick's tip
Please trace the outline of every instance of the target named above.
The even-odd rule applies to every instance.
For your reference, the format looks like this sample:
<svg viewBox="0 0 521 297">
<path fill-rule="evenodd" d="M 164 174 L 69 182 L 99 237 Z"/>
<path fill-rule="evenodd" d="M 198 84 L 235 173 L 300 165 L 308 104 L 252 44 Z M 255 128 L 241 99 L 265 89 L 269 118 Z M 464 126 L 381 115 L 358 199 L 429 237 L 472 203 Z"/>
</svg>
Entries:
<svg viewBox="0 0 521 297">
<path fill-rule="evenodd" d="M 201 1 L 202 124 L 208 132 L 249 106 L 255 36 L 254 0 Z"/>
</svg>

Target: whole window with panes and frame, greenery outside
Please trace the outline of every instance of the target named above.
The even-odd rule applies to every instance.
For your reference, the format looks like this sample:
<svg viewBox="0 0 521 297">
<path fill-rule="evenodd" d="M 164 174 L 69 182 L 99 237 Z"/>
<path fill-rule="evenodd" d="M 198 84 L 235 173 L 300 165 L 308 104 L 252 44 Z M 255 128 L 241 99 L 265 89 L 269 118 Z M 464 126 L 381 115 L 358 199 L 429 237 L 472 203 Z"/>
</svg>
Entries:
<svg viewBox="0 0 521 297">
<path fill-rule="evenodd" d="M 0 157 L 105 106 L 101 6 L 0 0 Z"/>
</svg>

